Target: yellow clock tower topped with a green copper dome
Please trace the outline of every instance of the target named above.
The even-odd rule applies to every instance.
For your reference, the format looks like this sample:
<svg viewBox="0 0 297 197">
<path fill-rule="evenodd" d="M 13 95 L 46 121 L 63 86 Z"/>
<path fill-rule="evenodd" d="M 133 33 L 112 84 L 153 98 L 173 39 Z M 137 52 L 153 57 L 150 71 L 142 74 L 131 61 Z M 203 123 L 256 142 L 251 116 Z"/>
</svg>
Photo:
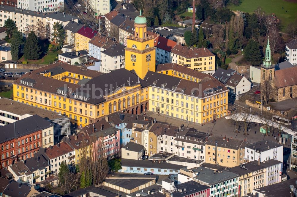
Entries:
<svg viewBox="0 0 297 197">
<path fill-rule="evenodd" d="M 143 79 L 151 70 L 156 72 L 156 47 L 154 47 L 154 36 L 146 33 L 146 17 L 141 13 L 134 21 L 134 35 L 127 37 L 125 48 L 125 68 L 134 70 Z"/>
</svg>

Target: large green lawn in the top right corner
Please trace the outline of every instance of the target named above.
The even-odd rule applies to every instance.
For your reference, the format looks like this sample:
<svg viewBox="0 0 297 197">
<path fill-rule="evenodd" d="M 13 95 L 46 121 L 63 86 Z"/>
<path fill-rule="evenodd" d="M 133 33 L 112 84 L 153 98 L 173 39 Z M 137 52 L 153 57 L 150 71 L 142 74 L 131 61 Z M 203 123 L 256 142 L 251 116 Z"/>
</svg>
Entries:
<svg viewBox="0 0 297 197">
<path fill-rule="evenodd" d="M 284 0 L 242 0 L 239 6 L 229 4 L 227 7 L 231 10 L 241 10 L 249 13 L 254 12 L 257 7 L 261 7 L 266 14 L 274 13 L 281 20 L 282 30 L 297 18 L 297 3 Z"/>
</svg>

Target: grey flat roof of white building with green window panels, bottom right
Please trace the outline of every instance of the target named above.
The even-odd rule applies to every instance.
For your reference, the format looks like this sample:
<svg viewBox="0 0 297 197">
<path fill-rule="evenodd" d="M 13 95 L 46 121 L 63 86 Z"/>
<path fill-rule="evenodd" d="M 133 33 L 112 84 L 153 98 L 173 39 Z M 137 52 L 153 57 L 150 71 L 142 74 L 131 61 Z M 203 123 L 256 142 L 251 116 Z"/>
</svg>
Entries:
<svg viewBox="0 0 297 197">
<path fill-rule="evenodd" d="M 236 173 L 228 172 L 226 170 L 214 173 L 214 170 L 205 167 L 196 167 L 191 170 L 193 170 L 194 172 L 198 172 L 198 176 L 194 177 L 194 179 L 200 180 L 204 183 L 207 183 L 208 185 L 221 183 L 223 181 L 230 180 L 239 176 Z"/>
</svg>

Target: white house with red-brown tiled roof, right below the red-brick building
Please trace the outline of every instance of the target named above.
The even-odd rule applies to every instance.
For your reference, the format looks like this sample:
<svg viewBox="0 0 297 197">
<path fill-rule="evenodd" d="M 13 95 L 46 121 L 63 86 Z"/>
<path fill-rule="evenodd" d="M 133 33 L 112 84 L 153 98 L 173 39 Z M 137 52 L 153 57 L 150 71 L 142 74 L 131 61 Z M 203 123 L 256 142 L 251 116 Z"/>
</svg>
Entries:
<svg viewBox="0 0 297 197">
<path fill-rule="evenodd" d="M 45 148 L 44 154 L 48 156 L 50 170 L 54 173 L 59 174 L 59 168 L 63 162 L 69 170 L 75 169 L 75 151 L 64 141 Z"/>
</svg>

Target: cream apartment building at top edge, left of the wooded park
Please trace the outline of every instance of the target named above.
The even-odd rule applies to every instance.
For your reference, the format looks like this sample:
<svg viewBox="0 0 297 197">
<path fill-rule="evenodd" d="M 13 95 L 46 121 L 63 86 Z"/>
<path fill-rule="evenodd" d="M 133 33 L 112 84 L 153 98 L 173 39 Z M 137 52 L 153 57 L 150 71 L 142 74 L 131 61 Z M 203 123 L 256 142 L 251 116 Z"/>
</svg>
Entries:
<svg viewBox="0 0 297 197">
<path fill-rule="evenodd" d="M 93 16 L 101 16 L 111 11 L 111 4 L 109 0 L 87 0 L 89 11 Z M 97 14 L 97 15 L 95 15 Z"/>
</svg>

